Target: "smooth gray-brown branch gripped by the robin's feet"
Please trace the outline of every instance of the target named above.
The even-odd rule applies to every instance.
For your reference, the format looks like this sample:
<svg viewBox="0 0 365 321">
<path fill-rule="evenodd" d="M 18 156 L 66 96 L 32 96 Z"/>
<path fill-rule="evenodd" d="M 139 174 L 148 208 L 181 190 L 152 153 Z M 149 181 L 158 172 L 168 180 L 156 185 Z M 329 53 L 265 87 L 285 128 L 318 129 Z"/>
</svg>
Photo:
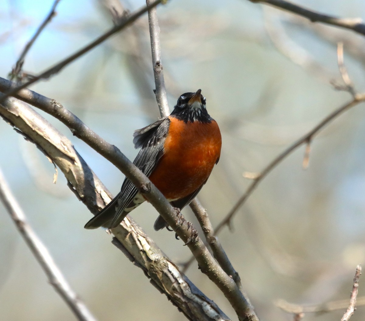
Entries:
<svg viewBox="0 0 365 321">
<path fill-rule="evenodd" d="M 1 84 L 11 85 L 11 81 L 0 78 Z M 0 88 L 1 90 L 1 88 Z M 188 248 L 195 256 L 200 270 L 208 276 L 214 284 L 222 291 L 238 314 L 239 320 L 258 320 L 251 305 L 247 302 L 233 279 L 224 273 L 223 269 L 216 263 L 214 257 L 210 254 L 207 247 L 199 237 L 193 241 L 191 239 L 191 225 L 187 221 L 178 224 L 175 209 L 170 205 L 162 193 L 151 183 L 141 170 L 139 170 L 128 158 L 120 152 L 114 145 L 109 144 L 98 134 L 86 126 L 72 112 L 64 108 L 61 104 L 53 99 L 46 98 L 29 89 L 22 89 L 16 96 L 29 102 L 33 106 L 49 113 L 64 123 L 72 131 L 73 135 L 86 142 L 94 150 L 115 165 L 131 182 L 143 192 L 144 197 L 160 213 L 165 221 L 171 226 L 177 235 L 187 244 Z M 1 96 L 0 96 L 1 98 Z"/>
</svg>

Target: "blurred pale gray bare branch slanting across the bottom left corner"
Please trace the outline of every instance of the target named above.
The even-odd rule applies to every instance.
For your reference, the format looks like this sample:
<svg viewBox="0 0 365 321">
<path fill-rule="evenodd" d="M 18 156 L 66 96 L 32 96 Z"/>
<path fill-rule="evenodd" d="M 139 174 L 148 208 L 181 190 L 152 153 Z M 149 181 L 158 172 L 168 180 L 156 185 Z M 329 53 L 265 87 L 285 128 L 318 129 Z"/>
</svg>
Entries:
<svg viewBox="0 0 365 321">
<path fill-rule="evenodd" d="M 35 259 L 47 275 L 49 283 L 54 287 L 55 291 L 65 300 L 78 320 L 96 321 L 84 302 L 82 302 L 80 297 L 72 290 L 47 248 L 27 222 L 25 214 L 15 197 L 12 195 L 1 169 L 0 199 L 24 238 L 24 241 L 26 241 L 28 247 L 33 252 Z"/>
</svg>

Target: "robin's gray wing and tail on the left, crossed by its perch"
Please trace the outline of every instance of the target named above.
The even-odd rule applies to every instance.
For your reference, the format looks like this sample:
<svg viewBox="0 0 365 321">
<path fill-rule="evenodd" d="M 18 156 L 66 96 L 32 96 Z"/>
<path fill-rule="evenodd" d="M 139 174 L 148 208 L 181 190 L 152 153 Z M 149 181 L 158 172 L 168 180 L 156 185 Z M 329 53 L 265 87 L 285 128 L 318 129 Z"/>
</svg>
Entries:
<svg viewBox="0 0 365 321">
<path fill-rule="evenodd" d="M 134 147 L 141 148 L 133 164 L 136 165 L 147 177 L 151 175 L 162 155 L 164 154 L 164 142 L 169 131 L 170 120 L 164 117 L 134 132 Z M 115 228 L 128 214 L 124 211 L 128 207 L 135 207 L 133 198 L 137 195 L 138 189 L 129 179 L 124 179 L 122 188 L 118 195 L 95 217 L 93 217 L 85 228 Z M 139 205 L 139 204 L 138 204 Z M 134 206 L 134 207 L 133 207 Z M 107 225 L 107 226 L 106 226 Z"/>
</svg>

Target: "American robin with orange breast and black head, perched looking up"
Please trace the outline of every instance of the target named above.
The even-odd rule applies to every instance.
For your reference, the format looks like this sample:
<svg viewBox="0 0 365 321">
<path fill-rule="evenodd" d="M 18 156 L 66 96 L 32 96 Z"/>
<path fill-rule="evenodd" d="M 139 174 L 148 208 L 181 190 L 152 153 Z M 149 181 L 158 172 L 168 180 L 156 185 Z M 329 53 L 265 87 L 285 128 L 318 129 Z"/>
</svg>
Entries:
<svg viewBox="0 0 365 321">
<path fill-rule="evenodd" d="M 205 101 L 201 89 L 184 93 L 170 116 L 136 130 L 133 135 L 135 148 L 141 148 L 133 163 L 177 209 L 199 193 L 219 160 L 222 138 Z M 85 229 L 115 228 L 145 200 L 126 178 L 118 195 L 86 223 Z M 154 229 L 165 226 L 165 220 L 158 217 Z"/>
</svg>

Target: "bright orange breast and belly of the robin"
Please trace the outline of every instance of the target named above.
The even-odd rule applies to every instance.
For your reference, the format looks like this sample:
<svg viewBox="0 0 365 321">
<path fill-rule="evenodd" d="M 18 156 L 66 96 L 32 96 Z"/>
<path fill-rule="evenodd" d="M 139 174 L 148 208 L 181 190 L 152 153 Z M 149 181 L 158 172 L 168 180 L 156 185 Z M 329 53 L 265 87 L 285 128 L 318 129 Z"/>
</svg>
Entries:
<svg viewBox="0 0 365 321">
<path fill-rule="evenodd" d="M 196 191 L 209 177 L 220 156 L 222 138 L 215 121 L 179 121 L 169 116 L 164 155 L 149 179 L 172 201 Z"/>
</svg>

